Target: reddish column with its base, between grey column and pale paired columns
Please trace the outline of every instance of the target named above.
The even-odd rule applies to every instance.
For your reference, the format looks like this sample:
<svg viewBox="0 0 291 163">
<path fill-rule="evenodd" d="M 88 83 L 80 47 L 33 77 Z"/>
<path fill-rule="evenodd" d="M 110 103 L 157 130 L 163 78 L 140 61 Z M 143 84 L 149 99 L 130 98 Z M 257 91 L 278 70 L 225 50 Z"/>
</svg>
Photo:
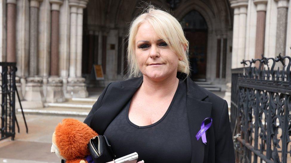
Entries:
<svg viewBox="0 0 291 163">
<path fill-rule="evenodd" d="M 64 102 L 63 80 L 59 77 L 59 15 L 63 0 L 49 0 L 51 5 L 50 77 L 47 84 L 47 102 Z"/>
</svg>

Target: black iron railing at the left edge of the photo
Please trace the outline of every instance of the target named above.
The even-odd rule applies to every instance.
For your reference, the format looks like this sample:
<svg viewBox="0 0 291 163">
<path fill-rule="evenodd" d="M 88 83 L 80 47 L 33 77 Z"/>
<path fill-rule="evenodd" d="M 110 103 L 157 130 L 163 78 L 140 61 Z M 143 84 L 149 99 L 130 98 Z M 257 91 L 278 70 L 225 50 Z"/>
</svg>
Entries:
<svg viewBox="0 0 291 163">
<path fill-rule="evenodd" d="M 15 137 L 15 124 L 17 125 L 18 132 L 19 126 L 17 123 L 15 115 L 15 92 L 18 96 L 18 102 L 21 106 L 19 100 L 18 91 L 16 88 L 16 63 L 11 62 L 0 62 L 1 69 L 1 138 L 5 139 L 11 137 L 11 140 L 14 140 Z M 22 110 L 22 107 L 21 107 Z M 24 118 L 24 123 L 26 126 L 26 132 L 28 133 L 27 124 L 25 117 L 22 111 L 22 116 Z"/>
</svg>

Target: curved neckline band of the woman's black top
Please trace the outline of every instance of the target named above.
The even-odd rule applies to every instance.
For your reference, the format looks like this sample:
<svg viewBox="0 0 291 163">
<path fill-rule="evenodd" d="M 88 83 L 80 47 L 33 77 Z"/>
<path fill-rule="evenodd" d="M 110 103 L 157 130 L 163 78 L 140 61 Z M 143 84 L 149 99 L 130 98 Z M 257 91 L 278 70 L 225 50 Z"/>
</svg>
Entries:
<svg viewBox="0 0 291 163">
<path fill-rule="evenodd" d="M 166 111 L 165 114 L 162 116 L 162 118 L 160 118 L 157 122 L 155 122 L 155 123 L 153 123 L 153 124 L 150 124 L 150 125 L 146 125 L 146 126 L 138 126 L 138 125 L 132 123 L 132 122 L 129 120 L 128 113 L 129 113 L 129 106 L 130 106 L 130 104 L 131 104 L 131 100 L 132 100 L 132 97 L 131 97 L 131 99 L 129 100 L 129 102 L 128 102 L 127 106 L 126 106 L 126 114 L 125 114 L 125 116 L 126 116 L 126 120 L 127 120 L 127 122 L 128 122 L 131 126 L 134 126 L 134 127 L 138 128 L 138 129 L 149 128 L 149 127 L 152 127 L 152 126 L 155 126 L 155 125 L 159 124 L 163 119 L 165 119 L 165 117 L 167 116 L 167 114 L 168 114 L 169 111 L 171 110 L 172 105 L 174 104 L 174 101 L 175 101 L 175 99 L 176 99 L 177 93 L 178 93 L 178 91 L 179 91 L 179 89 L 180 89 L 180 85 L 181 85 L 181 82 L 180 82 L 180 80 L 179 80 L 178 87 L 177 87 L 176 92 L 175 92 L 175 94 L 174 94 L 174 96 L 173 96 L 173 99 L 172 99 L 172 101 L 171 101 L 171 103 L 170 103 L 170 105 L 169 105 L 167 111 Z"/>
</svg>

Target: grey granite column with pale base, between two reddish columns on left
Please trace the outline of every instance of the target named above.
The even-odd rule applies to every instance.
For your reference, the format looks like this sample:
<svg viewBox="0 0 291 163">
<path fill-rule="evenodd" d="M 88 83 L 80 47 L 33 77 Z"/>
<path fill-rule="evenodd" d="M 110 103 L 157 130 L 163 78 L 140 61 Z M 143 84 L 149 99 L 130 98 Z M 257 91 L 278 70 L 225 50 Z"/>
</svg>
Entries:
<svg viewBox="0 0 291 163">
<path fill-rule="evenodd" d="M 38 8 L 42 0 L 30 0 L 30 47 L 29 77 L 27 78 L 24 99 L 32 102 L 32 107 L 43 107 L 44 94 L 42 77 L 38 75 Z M 30 104 L 27 104 L 27 106 Z M 31 104 L 32 105 L 32 104 Z"/>
</svg>

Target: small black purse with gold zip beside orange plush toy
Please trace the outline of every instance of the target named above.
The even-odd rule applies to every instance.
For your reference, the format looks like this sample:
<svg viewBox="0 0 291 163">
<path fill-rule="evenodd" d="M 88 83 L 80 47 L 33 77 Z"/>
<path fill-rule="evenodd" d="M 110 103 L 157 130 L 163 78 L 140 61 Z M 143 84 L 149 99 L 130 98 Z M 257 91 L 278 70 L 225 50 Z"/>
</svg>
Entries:
<svg viewBox="0 0 291 163">
<path fill-rule="evenodd" d="M 111 146 L 104 135 L 91 138 L 88 148 L 95 163 L 105 163 L 115 159 Z"/>
</svg>

